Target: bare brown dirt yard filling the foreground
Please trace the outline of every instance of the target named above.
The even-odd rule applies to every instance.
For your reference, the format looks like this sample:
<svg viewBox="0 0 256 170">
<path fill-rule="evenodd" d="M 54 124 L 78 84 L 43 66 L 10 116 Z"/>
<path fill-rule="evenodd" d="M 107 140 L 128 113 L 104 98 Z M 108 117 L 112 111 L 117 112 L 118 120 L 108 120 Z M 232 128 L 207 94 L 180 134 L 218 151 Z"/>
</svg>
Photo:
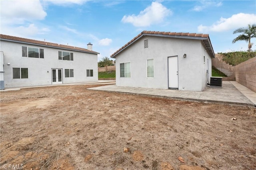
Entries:
<svg viewBox="0 0 256 170">
<path fill-rule="evenodd" d="M 256 169 L 255 108 L 94 86 L 1 92 L 0 169 Z"/>
</svg>

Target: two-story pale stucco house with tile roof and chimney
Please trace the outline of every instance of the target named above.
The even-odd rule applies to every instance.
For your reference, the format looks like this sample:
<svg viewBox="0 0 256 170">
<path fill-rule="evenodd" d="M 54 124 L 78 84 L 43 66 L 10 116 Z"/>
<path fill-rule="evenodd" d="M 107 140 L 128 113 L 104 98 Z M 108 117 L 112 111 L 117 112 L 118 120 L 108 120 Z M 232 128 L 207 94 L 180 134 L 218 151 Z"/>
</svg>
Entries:
<svg viewBox="0 0 256 170">
<path fill-rule="evenodd" d="M 87 49 L 0 35 L 1 89 L 98 81 L 98 54 Z"/>
</svg>

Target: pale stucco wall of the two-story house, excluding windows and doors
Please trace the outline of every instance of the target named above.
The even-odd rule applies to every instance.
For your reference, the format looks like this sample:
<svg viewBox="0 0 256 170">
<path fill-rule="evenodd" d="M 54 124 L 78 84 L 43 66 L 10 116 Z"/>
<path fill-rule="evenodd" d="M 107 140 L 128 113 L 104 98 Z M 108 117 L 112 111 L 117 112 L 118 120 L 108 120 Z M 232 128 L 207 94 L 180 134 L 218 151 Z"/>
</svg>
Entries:
<svg viewBox="0 0 256 170">
<path fill-rule="evenodd" d="M 0 41 L 0 43 L 1 51 L 4 51 L 5 88 L 52 84 L 52 68 L 62 69 L 63 84 L 98 81 L 97 54 L 9 41 Z M 22 57 L 22 46 L 44 49 L 44 59 Z M 74 61 L 59 60 L 58 51 L 74 53 Z M 28 68 L 28 78 L 13 79 L 12 68 Z M 64 69 L 74 69 L 74 77 L 65 78 Z M 93 70 L 93 77 L 86 76 L 86 69 Z"/>
</svg>

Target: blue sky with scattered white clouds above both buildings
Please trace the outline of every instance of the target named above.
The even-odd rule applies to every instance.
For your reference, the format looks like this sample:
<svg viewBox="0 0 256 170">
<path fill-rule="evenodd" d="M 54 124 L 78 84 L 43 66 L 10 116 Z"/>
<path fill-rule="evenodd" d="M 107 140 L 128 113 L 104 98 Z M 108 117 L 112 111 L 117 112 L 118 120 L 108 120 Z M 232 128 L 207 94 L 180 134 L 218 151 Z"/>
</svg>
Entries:
<svg viewBox="0 0 256 170">
<path fill-rule="evenodd" d="M 256 23 L 250 0 L 1 0 L 1 34 L 87 48 L 102 57 L 143 30 L 209 34 L 215 53 L 246 51 L 232 40 Z M 251 40 L 256 49 L 255 38 Z"/>
</svg>

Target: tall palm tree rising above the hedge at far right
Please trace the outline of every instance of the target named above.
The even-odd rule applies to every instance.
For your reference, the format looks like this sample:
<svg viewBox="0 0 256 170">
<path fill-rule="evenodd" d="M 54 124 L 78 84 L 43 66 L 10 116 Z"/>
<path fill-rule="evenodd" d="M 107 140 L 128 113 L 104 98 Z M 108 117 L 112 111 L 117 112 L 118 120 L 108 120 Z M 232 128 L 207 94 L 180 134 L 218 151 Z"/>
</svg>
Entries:
<svg viewBox="0 0 256 170">
<path fill-rule="evenodd" d="M 248 24 L 248 27 L 240 27 L 236 29 L 233 34 L 235 33 L 243 33 L 241 35 L 238 35 L 235 39 L 233 39 L 232 43 L 235 43 L 236 41 L 246 41 L 248 43 L 248 51 L 251 51 L 252 44 L 251 43 L 251 38 L 256 37 L 256 24 Z"/>
</svg>

